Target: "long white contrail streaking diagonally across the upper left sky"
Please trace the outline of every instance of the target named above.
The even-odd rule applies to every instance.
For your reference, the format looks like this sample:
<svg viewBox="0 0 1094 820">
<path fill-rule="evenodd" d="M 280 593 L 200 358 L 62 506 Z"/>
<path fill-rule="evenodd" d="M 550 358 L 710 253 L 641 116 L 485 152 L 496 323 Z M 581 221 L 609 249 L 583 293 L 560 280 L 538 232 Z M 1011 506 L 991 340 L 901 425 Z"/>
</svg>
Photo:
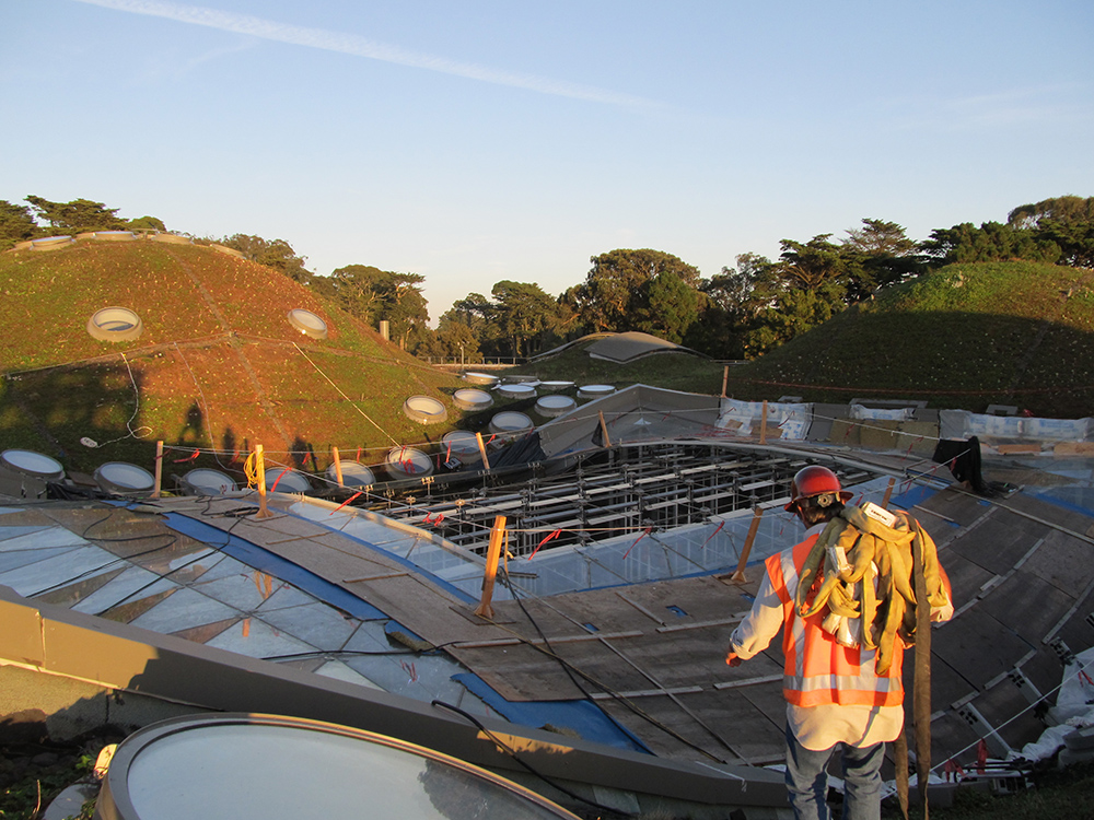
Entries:
<svg viewBox="0 0 1094 820">
<path fill-rule="evenodd" d="M 295 46 L 321 48 L 325 51 L 340 51 L 356 57 L 368 57 L 372 60 L 396 62 L 400 66 L 440 71 L 443 74 L 466 77 L 469 80 L 511 85 L 526 89 L 540 94 L 573 97 L 592 103 L 608 103 L 612 105 L 649 107 L 656 105 L 650 99 L 616 94 L 603 89 L 587 85 L 550 80 L 535 74 L 520 74 L 510 71 L 478 66 L 473 62 L 458 62 L 444 57 L 408 51 L 398 46 L 376 43 L 356 34 L 341 34 L 323 28 L 306 28 L 298 25 L 276 23 L 271 20 L 253 17 L 247 14 L 236 14 L 217 9 L 206 9 L 200 5 L 183 5 L 181 3 L 161 2 L 160 0 L 75 0 L 90 5 L 101 5 L 115 11 L 127 11 L 132 14 L 148 14 L 153 17 L 165 17 L 179 23 L 203 25 L 222 32 L 246 34 L 261 39 L 290 43 Z"/>
</svg>

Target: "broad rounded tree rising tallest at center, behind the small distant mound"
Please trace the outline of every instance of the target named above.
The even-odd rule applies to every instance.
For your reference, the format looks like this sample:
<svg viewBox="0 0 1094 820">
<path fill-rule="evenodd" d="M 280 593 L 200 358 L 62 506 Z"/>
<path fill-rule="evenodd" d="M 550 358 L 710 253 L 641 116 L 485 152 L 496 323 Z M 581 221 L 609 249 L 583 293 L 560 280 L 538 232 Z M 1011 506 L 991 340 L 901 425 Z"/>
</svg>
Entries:
<svg viewBox="0 0 1094 820">
<path fill-rule="evenodd" d="M 640 311 L 648 307 L 649 283 L 672 271 L 689 288 L 698 290 L 699 270 L 672 254 L 644 248 L 617 249 L 590 259 L 593 267 L 571 297 L 582 321 L 593 330 L 635 330 Z"/>
</svg>

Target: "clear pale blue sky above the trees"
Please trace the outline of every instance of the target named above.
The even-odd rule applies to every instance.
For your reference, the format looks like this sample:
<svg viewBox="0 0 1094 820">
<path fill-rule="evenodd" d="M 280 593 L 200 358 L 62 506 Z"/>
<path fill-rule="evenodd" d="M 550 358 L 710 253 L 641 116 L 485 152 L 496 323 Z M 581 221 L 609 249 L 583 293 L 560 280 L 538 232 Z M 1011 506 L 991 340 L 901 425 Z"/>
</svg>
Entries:
<svg viewBox="0 0 1094 820">
<path fill-rule="evenodd" d="M 0 199 L 420 273 L 435 323 L 1094 196 L 1092 42 L 1090 0 L 0 0 Z"/>
</svg>

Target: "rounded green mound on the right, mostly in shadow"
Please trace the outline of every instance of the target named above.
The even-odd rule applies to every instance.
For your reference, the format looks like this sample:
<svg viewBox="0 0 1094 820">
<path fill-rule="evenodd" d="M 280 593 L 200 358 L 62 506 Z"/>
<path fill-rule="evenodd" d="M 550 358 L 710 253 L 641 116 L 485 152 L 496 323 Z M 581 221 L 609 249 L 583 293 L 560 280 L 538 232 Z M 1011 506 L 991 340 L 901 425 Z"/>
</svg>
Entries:
<svg viewBox="0 0 1094 820">
<path fill-rule="evenodd" d="M 1094 414 L 1094 271 L 953 265 L 731 370 L 740 398 L 926 399 L 982 412 Z"/>
</svg>

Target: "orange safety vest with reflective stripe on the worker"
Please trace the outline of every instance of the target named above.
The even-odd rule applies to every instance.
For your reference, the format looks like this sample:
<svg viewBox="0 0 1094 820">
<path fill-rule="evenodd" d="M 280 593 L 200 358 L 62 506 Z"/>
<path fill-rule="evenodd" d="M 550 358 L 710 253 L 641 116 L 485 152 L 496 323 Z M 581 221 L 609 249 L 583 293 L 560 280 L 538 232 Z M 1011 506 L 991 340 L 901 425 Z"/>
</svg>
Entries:
<svg viewBox="0 0 1094 820">
<path fill-rule="evenodd" d="M 860 704 L 899 706 L 904 703 L 900 667 L 905 644 L 897 636 L 893 663 L 885 675 L 874 671 L 873 649 L 848 647 L 821 628 L 825 610 L 802 618 L 794 611 L 798 577 L 819 534 L 765 562 L 771 586 L 782 601 L 782 653 L 785 658 L 782 693 L 795 706 Z M 810 596 L 812 601 L 812 596 Z"/>
</svg>

